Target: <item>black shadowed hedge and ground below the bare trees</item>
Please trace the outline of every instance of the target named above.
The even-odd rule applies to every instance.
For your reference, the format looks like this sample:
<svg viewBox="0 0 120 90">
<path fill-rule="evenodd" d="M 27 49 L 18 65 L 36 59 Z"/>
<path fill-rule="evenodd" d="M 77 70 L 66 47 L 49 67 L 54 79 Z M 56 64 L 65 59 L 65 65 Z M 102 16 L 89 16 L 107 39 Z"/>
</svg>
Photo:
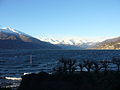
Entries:
<svg viewBox="0 0 120 90">
<path fill-rule="evenodd" d="M 120 73 L 30 74 L 22 77 L 18 90 L 120 90 Z"/>
</svg>

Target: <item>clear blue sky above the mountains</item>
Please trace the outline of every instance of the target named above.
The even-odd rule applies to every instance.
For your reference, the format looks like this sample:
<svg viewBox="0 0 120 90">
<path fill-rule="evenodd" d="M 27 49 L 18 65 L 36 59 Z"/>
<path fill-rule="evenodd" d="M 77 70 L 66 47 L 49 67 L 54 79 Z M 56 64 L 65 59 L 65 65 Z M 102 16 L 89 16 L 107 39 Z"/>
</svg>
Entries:
<svg viewBox="0 0 120 90">
<path fill-rule="evenodd" d="M 0 28 L 34 37 L 120 36 L 120 0 L 0 0 Z"/>
</svg>

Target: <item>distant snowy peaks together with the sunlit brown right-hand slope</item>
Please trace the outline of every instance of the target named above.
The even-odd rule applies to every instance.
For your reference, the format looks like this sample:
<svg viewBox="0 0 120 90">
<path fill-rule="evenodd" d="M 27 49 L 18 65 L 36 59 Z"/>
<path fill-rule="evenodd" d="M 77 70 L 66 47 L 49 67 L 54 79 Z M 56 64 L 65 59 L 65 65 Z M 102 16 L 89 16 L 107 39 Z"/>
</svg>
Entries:
<svg viewBox="0 0 120 90">
<path fill-rule="evenodd" d="M 64 49 L 120 49 L 120 37 L 106 39 L 98 42 L 79 38 L 63 40 L 41 38 L 40 40 L 55 44 Z"/>
</svg>

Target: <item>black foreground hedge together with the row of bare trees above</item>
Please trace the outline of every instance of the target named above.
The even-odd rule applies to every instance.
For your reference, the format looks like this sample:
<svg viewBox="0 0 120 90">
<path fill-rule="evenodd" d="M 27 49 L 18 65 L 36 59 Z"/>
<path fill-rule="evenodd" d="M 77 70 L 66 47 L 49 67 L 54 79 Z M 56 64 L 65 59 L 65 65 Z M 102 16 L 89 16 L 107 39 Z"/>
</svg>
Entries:
<svg viewBox="0 0 120 90">
<path fill-rule="evenodd" d="M 111 64 L 116 65 L 116 71 L 109 68 Z M 53 74 L 40 72 L 23 76 L 18 90 L 120 90 L 119 66 L 119 58 L 80 63 L 62 58 Z"/>
</svg>

